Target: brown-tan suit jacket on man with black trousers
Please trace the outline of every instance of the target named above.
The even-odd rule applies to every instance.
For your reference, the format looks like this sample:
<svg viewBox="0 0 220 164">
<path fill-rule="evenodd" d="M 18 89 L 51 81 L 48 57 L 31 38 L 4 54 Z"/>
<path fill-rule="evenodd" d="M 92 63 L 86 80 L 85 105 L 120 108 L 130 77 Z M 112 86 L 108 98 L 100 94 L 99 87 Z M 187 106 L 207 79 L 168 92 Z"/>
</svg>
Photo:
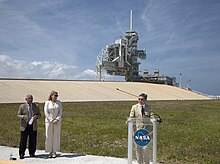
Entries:
<svg viewBox="0 0 220 164">
<path fill-rule="evenodd" d="M 41 116 L 40 109 L 38 105 L 35 103 L 32 103 L 32 111 L 33 111 L 33 116 L 36 115 L 37 118 Z M 23 119 L 24 115 L 28 115 L 28 104 L 21 104 L 18 110 L 18 117 L 20 118 L 20 130 L 24 131 L 27 127 L 27 122 L 26 120 Z M 33 131 L 37 130 L 37 119 L 33 121 Z"/>
</svg>

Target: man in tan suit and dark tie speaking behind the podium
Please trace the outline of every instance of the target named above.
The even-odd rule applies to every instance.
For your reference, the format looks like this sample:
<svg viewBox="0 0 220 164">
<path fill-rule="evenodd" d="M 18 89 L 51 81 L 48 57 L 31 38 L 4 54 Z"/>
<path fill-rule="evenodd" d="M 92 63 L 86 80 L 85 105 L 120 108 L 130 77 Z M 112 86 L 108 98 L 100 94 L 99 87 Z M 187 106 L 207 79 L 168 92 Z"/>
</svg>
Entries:
<svg viewBox="0 0 220 164">
<path fill-rule="evenodd" d="M 129 117 L 136 119 L 136 126 L 134 132 L 140 129 L 150 130 L 150 117 L 153 115 L 152 108 L 147 104 L 147 94 L 141 93 L 138 96 L 138 103 L 133 105 Z M 136 156 L 139 164 L 149 163 L 149 151 L 147 147 L 136 145 Z"/>
</svg>

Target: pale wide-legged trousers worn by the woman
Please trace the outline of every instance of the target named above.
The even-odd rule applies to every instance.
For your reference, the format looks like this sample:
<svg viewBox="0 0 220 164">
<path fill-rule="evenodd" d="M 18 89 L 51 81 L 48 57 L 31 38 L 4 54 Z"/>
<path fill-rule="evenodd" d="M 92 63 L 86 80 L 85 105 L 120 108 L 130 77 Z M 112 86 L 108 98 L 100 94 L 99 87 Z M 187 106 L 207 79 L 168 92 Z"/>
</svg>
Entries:
<svg viewBox="0 0 220 164">
<path fill-rule="evenodd" d="M 45 128 L 45 151 L 55 153 L 60 150 L 61 121 L 58 121 L 57 124 L 45 122 Z"/>
</svg>

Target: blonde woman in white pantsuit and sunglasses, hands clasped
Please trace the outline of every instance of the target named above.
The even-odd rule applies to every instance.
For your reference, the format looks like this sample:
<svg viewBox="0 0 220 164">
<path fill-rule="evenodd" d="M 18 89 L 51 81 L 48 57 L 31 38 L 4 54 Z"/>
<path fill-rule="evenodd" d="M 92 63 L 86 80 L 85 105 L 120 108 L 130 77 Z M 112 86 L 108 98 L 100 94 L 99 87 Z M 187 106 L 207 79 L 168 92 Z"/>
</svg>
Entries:
<svg viewBox="0 0 220 164">
<path fill-rule="evenodd" d="M 60 131 L 62 104 L 57 100 L 58 92 L 51 91 L 48 101 L 44 105 L 46 141 L 45 151 L 49 152 L 49 158 L 56 158 L 56 152 L 60 150 Z"/>
</svg>

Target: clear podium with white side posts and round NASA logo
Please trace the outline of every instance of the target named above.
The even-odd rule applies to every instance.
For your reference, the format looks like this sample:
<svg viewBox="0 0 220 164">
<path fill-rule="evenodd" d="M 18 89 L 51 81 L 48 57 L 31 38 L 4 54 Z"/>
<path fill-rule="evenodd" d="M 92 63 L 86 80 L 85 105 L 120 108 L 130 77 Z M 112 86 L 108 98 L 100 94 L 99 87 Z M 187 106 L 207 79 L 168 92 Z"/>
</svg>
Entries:
<svg viewBox="0 0 220 164">
<path fill-rule="evenodd" d="M 157 164 L 157 126 L 160 122 L 160 117 L 127 119 L 128 164 Z"/>
</svg>

